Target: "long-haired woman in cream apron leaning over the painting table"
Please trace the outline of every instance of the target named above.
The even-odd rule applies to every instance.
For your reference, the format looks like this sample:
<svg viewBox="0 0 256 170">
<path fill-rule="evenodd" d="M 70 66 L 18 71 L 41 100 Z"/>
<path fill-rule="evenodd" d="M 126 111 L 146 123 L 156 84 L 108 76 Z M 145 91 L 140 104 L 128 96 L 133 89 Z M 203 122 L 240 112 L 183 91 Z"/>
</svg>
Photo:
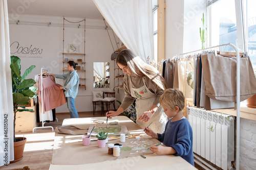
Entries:
<svg viewBox="0 0 256 170">
<path fill-rule="evenodd" d="M 163 133 L 167 116 L 159 104 L 159 98 L 166 89 L 166 83 L 159 71 L 146 64 L 131 50 L 122 50 L 116 63 L 125 73 L 123 79 L 124 99 L 117 111 L 109 111 L 109 118 L 126 110 L 136 100 L 136 124 L 141 128 L 150 125 L 157 133 Z"/>
</svg>

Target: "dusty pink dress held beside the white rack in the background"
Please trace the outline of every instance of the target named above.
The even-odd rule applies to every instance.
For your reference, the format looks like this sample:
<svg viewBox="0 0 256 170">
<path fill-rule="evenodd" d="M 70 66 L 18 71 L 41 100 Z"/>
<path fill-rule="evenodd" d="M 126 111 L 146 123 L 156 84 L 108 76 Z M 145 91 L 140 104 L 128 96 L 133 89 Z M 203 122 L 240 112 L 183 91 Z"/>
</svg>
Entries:
<svg viewBox="0 0 256 170">
<path fill-rule="evenodd" d="M 42 78 L 44 111 L 49 111 L 57 108 L 67 102 L 65 93 L 60 89 L 61 85 L 56 84 L 51 76 Z M 41 103 L 41 77 L 38 80 L 38 100 Z"/>
</svg>

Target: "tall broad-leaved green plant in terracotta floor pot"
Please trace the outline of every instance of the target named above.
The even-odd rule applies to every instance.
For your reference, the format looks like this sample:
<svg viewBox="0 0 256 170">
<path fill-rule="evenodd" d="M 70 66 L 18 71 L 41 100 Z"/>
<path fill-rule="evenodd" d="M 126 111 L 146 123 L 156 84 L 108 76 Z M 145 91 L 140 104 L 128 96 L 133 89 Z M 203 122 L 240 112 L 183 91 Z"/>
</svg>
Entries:
<svg viewBox="0 0 256 170">
<path fill-rule="evenodd" d="M 16 56 L 11 56 L 11 72 L 12 72 L 12 98 L 13 98 L 13 139 L 14 139 L 14 160 L 11 162 L 17 162 L 23 158 L 23 151 L 27 139 L 24 137 L 15 137 L 15 122 L 16 113 L 29 111 L 34 112 L 32 109 L 26 109 L 26 107 L 20 105 L 28 105 L 31 98 L 35 98 L 36 88 L 33 87 L 35 81 L 33 79 L 26 79 L 31 73 L 34 65 L 30 66 L 24 72 L 23 76 L 20 75 L 20 59 Z M 20 152 L 20 153 L 18 153 Z"/>
</svg>

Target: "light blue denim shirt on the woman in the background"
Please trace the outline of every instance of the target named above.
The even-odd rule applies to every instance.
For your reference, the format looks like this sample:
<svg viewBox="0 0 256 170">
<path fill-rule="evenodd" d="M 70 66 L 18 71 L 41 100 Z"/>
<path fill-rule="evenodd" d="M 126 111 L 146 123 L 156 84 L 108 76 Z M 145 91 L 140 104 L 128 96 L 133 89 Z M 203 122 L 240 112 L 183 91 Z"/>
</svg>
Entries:
<svg viewBox="0 0 256 170">
<path fill-rule="evenodd" d="M 55 75 L 56 78 L 65 79 L 63 89 L 67 91 L 66 97 L 76 98 L 78 93 L 79 77 L 76 70 L 69 71 L 64 75 Z"/>
</svg>

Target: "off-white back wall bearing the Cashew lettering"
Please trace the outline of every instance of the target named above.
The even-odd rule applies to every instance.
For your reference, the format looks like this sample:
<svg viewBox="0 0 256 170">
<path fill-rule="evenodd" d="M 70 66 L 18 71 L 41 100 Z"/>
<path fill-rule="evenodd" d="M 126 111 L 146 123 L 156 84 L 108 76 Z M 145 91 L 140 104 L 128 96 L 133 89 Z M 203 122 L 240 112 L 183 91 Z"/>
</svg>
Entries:
<svg viewBox="0 0 256 170">
<path fill-rule="evenodd" d="M 81 18 L 67 18 L 71 21 L 82 20 Z M 10 24 L 10 44 L 11 55 L 18 56 L 21 59 L 22 74 L 30 66 L 35 65 L 36 68 L 32 71 L 32 74 L 28 78 L 33 78 L 37 74 L 40 74 L 40 68 L 44 67 L 49 72 L 54 74 L 63 74 L 62 72 L 62 36 L 63 36 L 63 18 L 62 17 L 49 17 L 49 16 L 32 16 L 32 15 L 20 15 L 18 20 L 20 23 Z M 10 21 L 11 18 L 10 18 Z M 30 22 L 51 22 L 60 23 L 60 26 L 38 26 L 38 25 L 23 25 L 23 21 Z M 67 22 L 65 22 L 66 25 Z M 87 28 L 88 27 L 88 28 Z M 78 112 L 92 111 L 92 91 L 113 91 L 114 87 L 114 61 L 111 60 L 111 54 L 113 48 L 110 43 L 108 33 L 104 27 L 103 20 L 87 19 L 86 20 L 86 86 L 79 88 L 77 98 L 75 99 L 75 107 Z M 110 32 L 113 38 L 112 31 Z M 81 40 L 82 39 L 82 40 Z M 114 41 L 114 39 L 112 39 Z M 17 42 L 19 48 L 26 47 L 38 48 L 40 54 L 22 54 L 19 53 L 22 48 L 17 52 Z M 68 43 L 83 42 L 83 28 L 65 28 L 65 48 Z M 67 44 L 66 44 L 67 43 Z M 115 41 L 114 41 L 115 43 Z M 83 43 L 79 45 L 80 53 L 83 53 Z M 116 50 L 116 49 L 115 49 Z M 42 52 L 41 52 L 42 51 Z M 75 61 L 77 56 L 72 56 Z M 81 57 L 79 57 L 81 58 Z M 110 62 L 110 88 L 93 88 L 93 62 Z M 78 71 L 78 74 L 80 72 Z M 56 83 L 63 85 L 63 80 L 56 79 Z M 97 110 L 100 110 L 98 108 Z M 69 112 L 67 105 L 62 105 L 56 109 L 56 112 Z"/>
</svg>

